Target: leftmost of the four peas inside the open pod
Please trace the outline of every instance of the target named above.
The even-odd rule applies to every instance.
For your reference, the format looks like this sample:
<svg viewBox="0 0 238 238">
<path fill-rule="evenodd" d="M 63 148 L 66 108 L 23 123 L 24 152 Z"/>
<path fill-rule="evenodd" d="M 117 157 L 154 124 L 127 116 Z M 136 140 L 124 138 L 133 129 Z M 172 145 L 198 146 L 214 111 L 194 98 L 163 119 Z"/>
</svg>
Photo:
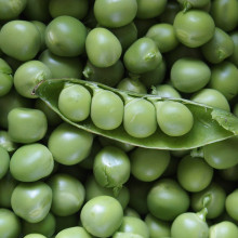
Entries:
<svg viewBox="0 0 238 238">
<path fill-rule="evenodd" d="M 82 121 L 90 115 L 91 94 L 82 85 L 66 84 L 58 96 L 60 111 L 71 121 Z"/>
</svg>

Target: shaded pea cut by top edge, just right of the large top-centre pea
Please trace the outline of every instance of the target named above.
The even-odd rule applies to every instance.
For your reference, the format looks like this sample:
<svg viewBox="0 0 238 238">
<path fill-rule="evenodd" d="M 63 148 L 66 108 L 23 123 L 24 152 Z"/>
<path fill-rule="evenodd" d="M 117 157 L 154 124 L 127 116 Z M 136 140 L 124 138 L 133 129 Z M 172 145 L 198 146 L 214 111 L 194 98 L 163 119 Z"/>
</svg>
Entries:
<svg viewBox="0 0 238 238">
<path fill-rule="evenodd" d="M 137 0 L 137 18 L 153 18 L 164 11 L 167 0 Z"/>
</svg>

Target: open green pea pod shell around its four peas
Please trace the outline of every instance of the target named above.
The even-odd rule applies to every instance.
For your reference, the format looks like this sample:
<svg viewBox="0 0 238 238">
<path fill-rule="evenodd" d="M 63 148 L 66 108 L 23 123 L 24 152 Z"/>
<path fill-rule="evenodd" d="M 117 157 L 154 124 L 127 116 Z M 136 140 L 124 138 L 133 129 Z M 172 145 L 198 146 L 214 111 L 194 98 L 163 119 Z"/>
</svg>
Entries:
<svg viewBox="0 0 238 238">
<path fill-rule="evenodd" d="M 143 97 L 151 103 L 162 101 L 180 102 L 186 105 L 194 116 L 193 129 L 182 136 L 169 136 L 164 134 L 158 127 L 157 131 L 145 138 L 137 138 L 129 135 L 123 125 L 114 130 L 102 130 L 97 128 L 89 117 L 81 122 L 72 122 L 61 114 L 57 102 L 61 91 L 65 83 L 78 83 L 85 87 L 91 93 L 96 90 L 109 90 L 121 98 L 125 97 Z M 156 95 L 136 94 L 133 92 L 124 92 L 107 85 L 89 82 L 80 79 L 50 79 L 41 81 L 35 89 L 37 94 L 47 105 L 61 116 L 66 122 L 89 131 L 91 133 L 129 143 L 135 146 L 155 148 L 155 149 L 191 149 L 210 143 L 219 142 L 235 135 L 238 135 L 238 118 L 225 110 L 213 108 L 207 105 L 198 104 L 182 98 L 161 98 Z"/>
</svg>

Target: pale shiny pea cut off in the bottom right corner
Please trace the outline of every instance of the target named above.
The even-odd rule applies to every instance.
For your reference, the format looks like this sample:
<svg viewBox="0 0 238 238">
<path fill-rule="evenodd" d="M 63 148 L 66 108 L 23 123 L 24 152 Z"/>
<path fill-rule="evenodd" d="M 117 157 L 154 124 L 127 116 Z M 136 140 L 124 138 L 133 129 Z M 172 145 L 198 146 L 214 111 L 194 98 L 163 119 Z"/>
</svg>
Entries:
<svg viewBox="0 0 238 238">
<path fill-rule="evenodd" d="M 238 237 L 238 227 L 232 222 L 221 222 L 210 226 L 209 238 L 236 238 Z"/>
</svg>

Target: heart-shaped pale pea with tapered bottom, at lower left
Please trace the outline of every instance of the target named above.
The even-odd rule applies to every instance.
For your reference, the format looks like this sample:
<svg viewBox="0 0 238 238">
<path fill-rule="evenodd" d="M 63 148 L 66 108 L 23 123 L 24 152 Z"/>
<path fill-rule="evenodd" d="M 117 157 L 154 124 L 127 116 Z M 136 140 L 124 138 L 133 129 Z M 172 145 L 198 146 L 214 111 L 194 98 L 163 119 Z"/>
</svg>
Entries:
<svg viewBox="0 0 238 238">
<path fill-rule="evenodd" d="M 29 223 L 45 219 L 52 202 L 52 190 L 43 182 L 21 183 L 12 194 L 12 209 L 16 215 Z"/>
</svg>

